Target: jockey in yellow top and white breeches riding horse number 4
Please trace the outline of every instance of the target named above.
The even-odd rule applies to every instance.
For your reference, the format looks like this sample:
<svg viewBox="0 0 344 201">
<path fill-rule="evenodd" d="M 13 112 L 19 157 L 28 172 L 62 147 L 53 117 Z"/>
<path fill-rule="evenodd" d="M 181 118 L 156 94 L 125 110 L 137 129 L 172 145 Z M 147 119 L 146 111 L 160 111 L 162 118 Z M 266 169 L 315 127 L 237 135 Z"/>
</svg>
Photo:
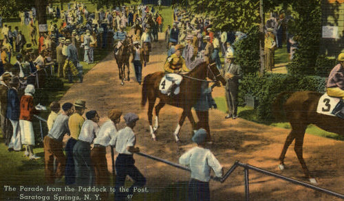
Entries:
<svg viewBox="0 0 344 201">
<path fill-rule="evenodd" d="M 175 45 L 175 54 L 172 54 L 167 58 L 164 64 L 164 70 L 166 73 L 166 79 L 173 82 L 169 88 L 168 95 L 174 95 L 175 88 L 177 88 L 182 82 L 182 76 L 178 75 L 181 72 L 189 72 L 190 70 L 186 67 L 185 60 L 182 57 L 184 46 Z"/>
</svg>

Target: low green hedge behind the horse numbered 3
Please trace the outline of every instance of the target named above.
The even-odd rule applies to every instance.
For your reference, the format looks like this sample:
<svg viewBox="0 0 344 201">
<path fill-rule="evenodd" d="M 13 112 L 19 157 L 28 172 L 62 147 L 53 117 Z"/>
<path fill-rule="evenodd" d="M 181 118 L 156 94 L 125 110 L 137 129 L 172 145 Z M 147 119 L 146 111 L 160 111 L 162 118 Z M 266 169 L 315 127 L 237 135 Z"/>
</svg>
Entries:
<svg viewBox="0 0 344 201">
<path fill-rule="evenodd" d="M 319 76 L 297 76 L 266 73 L 259 77 L 248 75 L 239 85 L 239 105 L 245 104 L 246 95 L 257 98 L 255 115 L 262 121 L 272 121 L 272 102 L 283 91 L 318 91 L 325 93 L 325 78 Z"/>
</svg>

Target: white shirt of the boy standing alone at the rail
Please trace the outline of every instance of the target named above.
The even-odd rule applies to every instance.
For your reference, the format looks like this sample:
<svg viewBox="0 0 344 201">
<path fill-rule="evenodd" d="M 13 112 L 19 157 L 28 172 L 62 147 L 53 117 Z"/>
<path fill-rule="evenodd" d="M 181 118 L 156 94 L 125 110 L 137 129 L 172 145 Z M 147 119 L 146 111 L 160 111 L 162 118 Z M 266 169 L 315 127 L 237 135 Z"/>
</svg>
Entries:
<svg viewBox="0 0 344 201">
<path fill-rule="evenodd" d="M 211 179 L 211 168 L 217 177 L 222 177 L 222 166 L 215 158 L 214 154 L 202 147 L 193 147 L 182 154 L 179 163 L 189 165 L 191 168 L 191 178 L 208 182 Z"/>
</svg>

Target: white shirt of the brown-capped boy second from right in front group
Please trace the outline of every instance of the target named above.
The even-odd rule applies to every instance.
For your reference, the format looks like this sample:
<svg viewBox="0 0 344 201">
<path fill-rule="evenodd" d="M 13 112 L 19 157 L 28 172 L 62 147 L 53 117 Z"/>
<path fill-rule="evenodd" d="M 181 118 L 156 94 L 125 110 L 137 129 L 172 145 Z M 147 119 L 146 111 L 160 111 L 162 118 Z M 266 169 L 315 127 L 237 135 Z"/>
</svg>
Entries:
<svg viewBox="0 0 344 201">
<path fill-rule="evenodd" d="M 111 120 L 108 120 L 102 126 L 100 126 L 97 137 L 94 139 L 94 144 L 103 145 L 106 147 L 109 145 L 111 139 L 114 139 L 117 133 L 118 132 L 115 123 Z"/>
</svg>

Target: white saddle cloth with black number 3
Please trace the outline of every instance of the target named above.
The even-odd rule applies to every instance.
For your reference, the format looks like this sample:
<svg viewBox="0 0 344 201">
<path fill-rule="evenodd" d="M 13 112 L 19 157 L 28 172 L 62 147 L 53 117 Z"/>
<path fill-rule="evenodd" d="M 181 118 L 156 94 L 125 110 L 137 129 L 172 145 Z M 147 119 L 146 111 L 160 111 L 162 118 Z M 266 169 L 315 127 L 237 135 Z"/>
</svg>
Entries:
<svg viewBox="0 0 344 201">
<path fill-rule="evenodd" d="M 341 97 L 332 97 L 325 93 L 319 99 L 316 113 L 344 119 L 344 101 Z"/>
</svg>

